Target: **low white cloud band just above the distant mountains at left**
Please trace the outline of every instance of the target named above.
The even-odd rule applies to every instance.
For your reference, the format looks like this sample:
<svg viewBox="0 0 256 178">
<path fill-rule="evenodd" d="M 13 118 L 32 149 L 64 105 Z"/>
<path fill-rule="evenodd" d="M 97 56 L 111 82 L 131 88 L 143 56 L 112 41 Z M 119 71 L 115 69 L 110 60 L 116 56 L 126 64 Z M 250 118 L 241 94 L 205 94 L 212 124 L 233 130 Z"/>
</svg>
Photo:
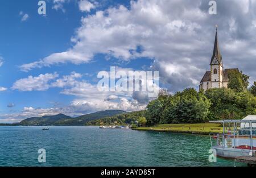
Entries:
<svg viewBox="0 0 256 178">
<path fill-rule="evenodd" d="M 142 110 L 146 105 L 139 105 L 137 101 L 129 101 L 127 98 L 121 98 L 120 102 L 110 102 L 102 100 L 85 100 L 76 99 L 71 102 L 69 106 L 65 107 L 49 107 L 49 108 L 35 108 L 31 106 L 24 107 L 23 110 L 11 114 L 0 114 L 0 123 L 14 123 L 20 122 L 23 119 L 30 117 L 40 117 L 43 115 L 56 115 L 63 113 L 75 117 L 92 113 L 94 111 L 108 110 L 108 109 L 121 109 L 126 111 Z"/>
</svg>

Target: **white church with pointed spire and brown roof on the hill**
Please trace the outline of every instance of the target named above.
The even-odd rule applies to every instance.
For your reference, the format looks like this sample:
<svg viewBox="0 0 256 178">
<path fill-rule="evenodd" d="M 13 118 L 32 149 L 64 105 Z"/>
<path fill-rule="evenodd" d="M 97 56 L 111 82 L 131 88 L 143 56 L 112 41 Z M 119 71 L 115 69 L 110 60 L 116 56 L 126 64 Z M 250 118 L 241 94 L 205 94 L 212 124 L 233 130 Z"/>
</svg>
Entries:
<svg viewBox="0 0 256 178">
<path fill-rule="evenodd" d="M 205 72 L 199 89 L 208 90 L 210 88 L 228 87 L 228 73 L 229 71 L 238 71 L 239 69 L 224 69 L 222 63 L 222 56 L 220 47 L 218 46 L 218 34 L 216 28 L 215 42 L 213 47 L 212 59 L 210 60 L 210 71 Z"/>
</svg>

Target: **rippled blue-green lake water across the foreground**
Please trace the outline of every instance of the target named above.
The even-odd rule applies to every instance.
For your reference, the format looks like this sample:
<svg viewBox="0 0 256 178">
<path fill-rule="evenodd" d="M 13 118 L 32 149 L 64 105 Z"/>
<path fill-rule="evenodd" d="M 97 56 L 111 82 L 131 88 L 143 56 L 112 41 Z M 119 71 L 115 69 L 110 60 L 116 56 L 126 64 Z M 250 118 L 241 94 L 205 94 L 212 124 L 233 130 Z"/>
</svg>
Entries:
<svg viewBox="0 0 256 178">
<path fill-rule="evenodd" d="M 90 126 L 0 126 L 0 166 L 234 166 L 209 163 L 209 136 Z M 46 150 L 46 163 L 38 150 Z M 244 166 L 238 164 L 236 166 Z"/>
</svg>

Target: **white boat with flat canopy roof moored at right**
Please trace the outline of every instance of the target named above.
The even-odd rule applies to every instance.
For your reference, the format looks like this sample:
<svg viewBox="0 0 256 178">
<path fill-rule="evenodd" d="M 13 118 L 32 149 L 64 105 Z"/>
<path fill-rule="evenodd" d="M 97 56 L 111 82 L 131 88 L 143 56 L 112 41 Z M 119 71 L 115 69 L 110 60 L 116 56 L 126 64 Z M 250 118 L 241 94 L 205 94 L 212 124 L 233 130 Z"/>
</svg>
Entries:
<svg viewBox="0 0 256 178">
<path fill-rule="evenodd" d="M 222 123 L 222 134 L 210 133 L 210 143 L 216 155 L 236 159 L 240 156 L 255 156 L 256 115 L 241 120 L 210 121 Z"/>
</svg>

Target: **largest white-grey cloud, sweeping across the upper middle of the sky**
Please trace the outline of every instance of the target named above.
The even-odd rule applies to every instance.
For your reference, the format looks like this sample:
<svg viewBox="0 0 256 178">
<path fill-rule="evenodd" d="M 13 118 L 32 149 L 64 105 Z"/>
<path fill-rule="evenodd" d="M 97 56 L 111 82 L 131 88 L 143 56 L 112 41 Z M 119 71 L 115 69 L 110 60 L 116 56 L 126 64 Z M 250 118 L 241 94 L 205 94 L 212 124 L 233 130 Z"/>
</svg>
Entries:
<svg viewBox="0 0 256 178">
<path fill-rule="evenodd" d="M 23 71 L 30 71 L 32 68 L 58 63 L 88 63 L 96 53 L 106 53 L 122 60 L 150 57 L 169 60 L 172 64 L 173 61 L 180 59 L 180 57 L 173 59 L 176 56 L 172 55 L 172 50 L 186 49 L 187 52 L 191 52 L 195 49 L 199 50 L 203 45 L 197 41 L 197 45 L 191 47 L 188 39 L 191 39 L 195 35 L 195 30 L 200 30 L 201 26 L 191 20 L 184 20 L 182 16 L 170 14 L 166 7 L 173 4 L 175 2 L 138 1 L 131 3 L 130 10 L 119 6 L 106 11 L 97 11 L 95 15 L 82 18 L 82 25 L 72 38 L 75 46 L 64 52 L 65 55 L 54 53 L 41 61 L 24 64 L 20 68 Z M 204 20 L 205 13 L 196 5 L 193 7 L 195 9 L 188 9 L 184 16 L 191 18 L 189 13 L 194 13 L 197 20 Z M 177 43 L 174 38 L 179 38 L 181 41 Z M 182 41 L 184 39 L 186 42 Z M 138 46 L 143 47 L 141 53 L 136 50 Z M 187 77 L 181 73 L 180 76 Z"/>
</svg>

